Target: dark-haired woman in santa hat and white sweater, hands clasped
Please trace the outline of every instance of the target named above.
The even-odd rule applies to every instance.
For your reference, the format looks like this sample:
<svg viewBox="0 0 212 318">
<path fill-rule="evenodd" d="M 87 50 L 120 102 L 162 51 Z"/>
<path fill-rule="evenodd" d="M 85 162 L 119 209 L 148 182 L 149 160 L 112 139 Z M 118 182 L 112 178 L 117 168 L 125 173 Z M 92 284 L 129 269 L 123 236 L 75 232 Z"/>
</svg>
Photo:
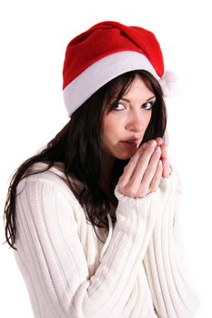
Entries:
<svg viewBox="0 0 212 318">
<path fill-rule="evenodd" d="M 67 46 L 63 75 L 71 119 L 17 169 L 5 204 L 35 317 L 194 317 L 155 35 L 94 25 Z"/>
</svg>

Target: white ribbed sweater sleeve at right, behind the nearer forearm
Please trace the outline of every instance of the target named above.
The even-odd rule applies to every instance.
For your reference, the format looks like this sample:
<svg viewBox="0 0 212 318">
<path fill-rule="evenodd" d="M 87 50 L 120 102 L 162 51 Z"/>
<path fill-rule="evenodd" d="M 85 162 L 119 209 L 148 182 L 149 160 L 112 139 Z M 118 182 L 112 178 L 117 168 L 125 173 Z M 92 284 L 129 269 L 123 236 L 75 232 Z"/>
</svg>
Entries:
<svg viewBox="0 0 212 318">
<path fill-rule="evenodd" d="M 144 258 L 146 275 L 159 317 L 193 318 L 199 297 L 186 266 L 179 227 L 182 189 L 175 169 L 160 186 L 164 197 Z"/>
</svg>

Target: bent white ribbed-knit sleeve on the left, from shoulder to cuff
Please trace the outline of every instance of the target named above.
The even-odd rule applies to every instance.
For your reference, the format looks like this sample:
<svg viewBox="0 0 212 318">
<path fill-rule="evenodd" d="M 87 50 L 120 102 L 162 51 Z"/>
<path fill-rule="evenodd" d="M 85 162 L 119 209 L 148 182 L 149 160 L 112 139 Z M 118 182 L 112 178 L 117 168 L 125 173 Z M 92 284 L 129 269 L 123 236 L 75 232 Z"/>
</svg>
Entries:
<svg viewBox="0 0 212 318">
<path fill-rule="evenodd" d="M 113 234 L 96 273 L 89 276 L 74 194 L 42 174 L 28 176 L 22 184 L 16 196 L 15 253 L 52 317 L 114 318 L 123 313 L 156 222 L 158 192 L 135 200 L 116 190 L 116 196 Z M 146 306 L 153 311 L 151 298 Z M 36 316 L 43 317 L 39 310 Z"/>
</svg>

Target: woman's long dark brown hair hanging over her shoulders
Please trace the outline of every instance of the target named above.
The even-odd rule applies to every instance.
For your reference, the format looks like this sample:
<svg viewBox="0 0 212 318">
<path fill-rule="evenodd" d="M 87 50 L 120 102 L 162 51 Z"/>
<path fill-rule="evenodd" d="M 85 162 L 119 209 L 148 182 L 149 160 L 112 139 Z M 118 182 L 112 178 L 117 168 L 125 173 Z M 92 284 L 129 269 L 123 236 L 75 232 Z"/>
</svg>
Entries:
<svg viewBox="0 0 212 318">
<path fill-rule="evenodd" d="M 17 184 L 27 175 L 50 169 L 56 162 L 64 164 L 67 183 L 84 208 L 87 221 L 94 227 L 108 228 L 106 214 L 109 212 L 111 204 L 116 201 L 113 194 L 114 188 L 128 161 L 116 159 L 113 178 L 110 182 L 112 195 L 106 194 L 99 184 L 103 154 L 101 148 L 102 119 L 106 109 L 108 109 L 108 104 L 116 104 L 120 100 L 136 75 L 140 76 L 145 81 L 146 86 L 156 95 L 156 103 L 142 143 L 164 136 L 167 125 L 166 105 L 160 84 L 153 75 L 143 70 L 127 72 L 102 86 L 71 115 L 69 122 L 46 145 L 44 150 L 27 159 L 15 171 L 9 184 L 4 215 L 5 242 L 11 247 L 16 249 L 15 198 L 18 195 L 16 194 Z M 29 168 L 39 162 L 46 163 L 46 168 L 30 173 Z M 78 180 L 84 184 L 83 189 L 77 189 L 72 180 Z M 116 219 L 113 221 L 116 222 Z"/>
</svg>

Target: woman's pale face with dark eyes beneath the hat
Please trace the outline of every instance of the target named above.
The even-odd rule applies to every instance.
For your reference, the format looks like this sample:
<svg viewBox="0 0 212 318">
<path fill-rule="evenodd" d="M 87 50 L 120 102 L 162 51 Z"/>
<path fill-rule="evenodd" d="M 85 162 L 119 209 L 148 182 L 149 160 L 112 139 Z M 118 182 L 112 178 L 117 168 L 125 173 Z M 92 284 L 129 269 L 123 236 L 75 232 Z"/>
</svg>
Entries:
<svg viewBox="0 0 212 318">
<path fill-rule="evenodd" d="M 155 94 L 136 76 L 112 111 L 104 114 L 102 143 L 107 157 L 125 160 L 136 153 L 155 102 Z"/>
</svg>

